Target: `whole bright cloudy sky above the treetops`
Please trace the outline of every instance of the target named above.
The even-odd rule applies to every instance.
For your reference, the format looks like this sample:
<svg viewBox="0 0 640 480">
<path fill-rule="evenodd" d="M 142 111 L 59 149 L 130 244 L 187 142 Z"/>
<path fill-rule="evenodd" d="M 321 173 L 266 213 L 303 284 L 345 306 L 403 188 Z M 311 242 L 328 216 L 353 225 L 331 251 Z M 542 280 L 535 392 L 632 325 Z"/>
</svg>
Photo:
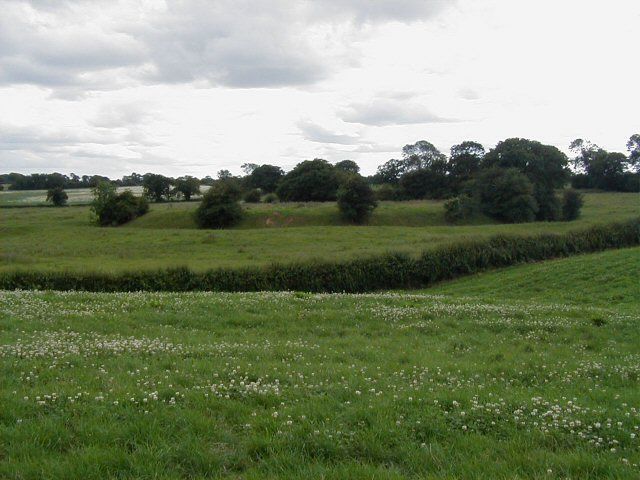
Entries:
<svg viewBox="0 0 640 480">
<path fill-rule="evenodd" d="M 625 151 L 638 0 L 0 0 L 0 171 L 215 176 L 428 140 Z"/>
</svg>

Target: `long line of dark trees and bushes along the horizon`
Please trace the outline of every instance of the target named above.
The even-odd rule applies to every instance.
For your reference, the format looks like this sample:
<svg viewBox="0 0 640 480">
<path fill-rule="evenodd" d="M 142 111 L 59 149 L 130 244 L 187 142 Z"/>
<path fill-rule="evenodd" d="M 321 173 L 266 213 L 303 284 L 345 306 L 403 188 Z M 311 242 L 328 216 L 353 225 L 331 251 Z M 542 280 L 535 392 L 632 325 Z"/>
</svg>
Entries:
<svg viewBox="0 0 640 480">
<path fill-rule="evenodd" d="M 366 221 L 377 200 L 425 198 L 448 199 L 445 210 L 451 221 L 481 214 L 506 222 L 555 221 L 579 215 L 579 193 L 565 190 L 561 196 L 557 194 L 569 184 L 580 189 L 639 191 L 639 134 L 631 136 L 627 150 L 628 154 L 607 152 L 577 139 L 570 145 L 574 154 L 570 159 L 554 146 L 509 138 L 488 152 L 478 142 L 465 141 L 451 147 L 447 156 L 421 140 L 405 145 L 400 159 L 385 162 L 370 177 L 361 176 L 352 160 L 331 164 L 323 159 L 302 161 L 286 173 L 276 165 L 245 163 L 241 167 L 243 175 L 220 170 L 216 179 L 170 178 L 154 173 L 133 173 L 118 181 L 59 173 L 3 177 L 15 181 L 11 184 L 15 189 L 46 186 L 48 200 L 57 205 L 66 202 L 67 184 L 86 183 L 104 190 L 101 185 L 108 183 L 114 195 L 116 186 L 142 186 L 145 199 L 155 202 L 191 200 L 201 195 L 200 186 L 206 184 L 211 189 L 203 196 L 196 219 L 201 226 L 213 228 L 239 220 L 240 200 L 337 201 L 343 216 L 356 223 Z M 130 210 L 138 211 L 137 207 Z"/>
</svg>

